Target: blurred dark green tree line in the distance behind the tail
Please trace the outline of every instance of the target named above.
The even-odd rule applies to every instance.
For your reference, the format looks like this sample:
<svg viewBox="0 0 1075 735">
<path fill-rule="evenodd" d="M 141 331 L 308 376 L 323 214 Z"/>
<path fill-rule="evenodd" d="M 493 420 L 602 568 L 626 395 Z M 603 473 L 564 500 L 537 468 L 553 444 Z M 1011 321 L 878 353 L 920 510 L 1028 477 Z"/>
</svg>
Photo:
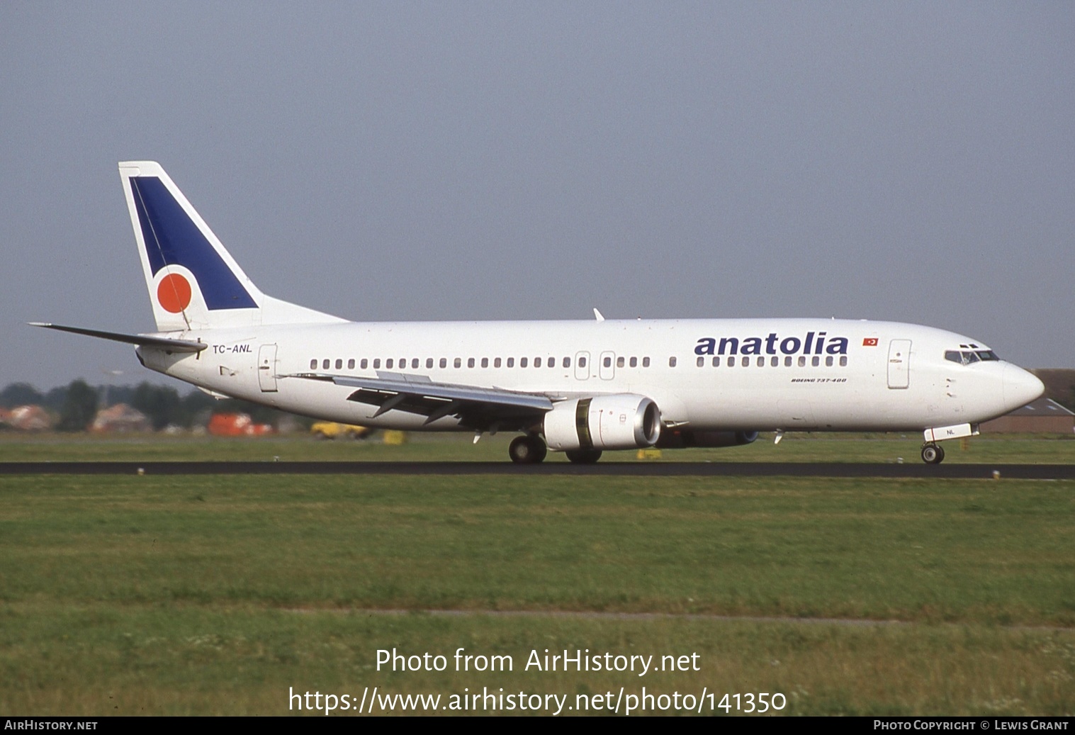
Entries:
<svg viewBox="0 0 1075 735">
<path fill-rule="evenodd" d="M 258 423 L 276 426 L 282 416 L 290 416 L 269 406 L 234 399 L 217 400 L 200 390 L 186 395 L 170 386 L 140 383 L 137 386 L 90 386 L 72 380 L 67 386 L 44 393 L 28 383 L 13 383 L 0 390 L 0 407 L 39 405 L 59 417 L 60 431 L 84 431 L 94 422 L 99 408 L 126 403 L 146 415 L 155 431 L 169 426 L 192 429 L 205 426 L 213 414 L 249 414 Z M 296 417 L 309 426 L 310 419 Z"/>
</svg>

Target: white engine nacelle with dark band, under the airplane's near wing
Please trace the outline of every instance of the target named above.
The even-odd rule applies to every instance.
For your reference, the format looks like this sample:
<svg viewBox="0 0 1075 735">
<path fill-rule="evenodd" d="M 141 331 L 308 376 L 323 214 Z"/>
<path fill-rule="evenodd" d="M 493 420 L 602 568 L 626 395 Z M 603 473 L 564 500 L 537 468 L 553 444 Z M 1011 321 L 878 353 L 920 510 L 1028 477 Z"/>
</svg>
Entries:
<svg viewBox="0 0 1075 735">
<path fill-rule="evenodd" d="M 553 406 L 543 431 L 553 451 L 651 447 L 661 435 L 661 412 L 633 393 L 572 399 Z"/>
</svg>

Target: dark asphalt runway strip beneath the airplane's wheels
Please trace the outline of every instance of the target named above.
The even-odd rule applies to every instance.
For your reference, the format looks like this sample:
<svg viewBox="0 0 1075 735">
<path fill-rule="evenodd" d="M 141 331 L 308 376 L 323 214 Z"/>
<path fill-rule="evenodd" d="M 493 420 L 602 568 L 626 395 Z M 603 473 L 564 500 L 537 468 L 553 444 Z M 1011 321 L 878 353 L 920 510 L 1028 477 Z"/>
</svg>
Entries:
<svg viewBox="0 0 1075 735">
<path fill-rule="evenodd" d="M 841 462 L 0 462 L 0 475 L 586 475 L 1075 479 L 1075 464 Z"/>
</svg>

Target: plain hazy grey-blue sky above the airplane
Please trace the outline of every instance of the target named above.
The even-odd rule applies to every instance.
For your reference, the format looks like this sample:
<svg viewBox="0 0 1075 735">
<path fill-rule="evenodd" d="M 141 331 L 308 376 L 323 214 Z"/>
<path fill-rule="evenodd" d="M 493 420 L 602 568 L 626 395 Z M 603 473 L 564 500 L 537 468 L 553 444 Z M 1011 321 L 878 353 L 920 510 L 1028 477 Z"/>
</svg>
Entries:
<svg viewBox="0 0 1075 735">
<path fill-rule="evenodd" d="M 153 330 L 130 159 L 349 319 L 892 319 L 1075 366 L 1070 2 L 4 2 L 0 70 L 0 385 L 154 378 L 23 326 Z"/>
</svg>

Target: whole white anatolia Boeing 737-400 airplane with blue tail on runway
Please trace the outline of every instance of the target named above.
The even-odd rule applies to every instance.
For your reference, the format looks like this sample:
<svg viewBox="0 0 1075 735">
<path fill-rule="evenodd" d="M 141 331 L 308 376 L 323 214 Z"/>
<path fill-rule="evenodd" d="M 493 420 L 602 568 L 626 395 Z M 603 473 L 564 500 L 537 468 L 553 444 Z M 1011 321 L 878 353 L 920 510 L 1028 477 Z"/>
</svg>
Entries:
<svg viewBox="0 0 1075 735">
<path fill-rule="evenodd" d="M 749 444 L 759 431 L 943 439 L 1041 397 L 978 340 L 851 319 L 354 322 L 266 296 L 159 163 L 119 163 L 157 331 L 31 322 L 135 345 L 216 398 L 404 431 L 515 432 L 513 462 L 562 451 Z"/>
</svg>

